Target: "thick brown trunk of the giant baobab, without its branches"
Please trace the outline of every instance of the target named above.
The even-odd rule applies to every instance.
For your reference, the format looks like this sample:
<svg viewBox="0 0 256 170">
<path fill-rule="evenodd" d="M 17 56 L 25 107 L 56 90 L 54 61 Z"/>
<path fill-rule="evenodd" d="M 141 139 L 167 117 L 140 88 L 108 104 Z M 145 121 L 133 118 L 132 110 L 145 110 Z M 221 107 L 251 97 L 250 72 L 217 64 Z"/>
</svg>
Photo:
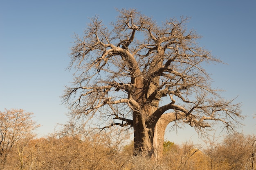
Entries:
<svg viewBox="0 0 256 170">
<path fill-rule="evenodd" d="M 157 122 L 146 121 L 146 118 L 150 117 L 158 109 L 159 100 L 153 100 L 148 105 L 145 105 L 144 102 L 157 89 L 156 84 L 159 82 L 159 77 L 153 78 L 151 82 L 147 82 L 148 84 L 142 80 L 143 78 L 137 78 L 137 89 L 135 90 L 137 94 L 136 100 L 139 101 L 141 112 L 136 113 L 134 111 L 133 113 L 134 155 L 142 154 L 143 156 L 158 159 L 158 157 L 162 156 L 164 132 L 169 122 L 167 123 L 166 120 L 161 118 Z"/>
</svg>

